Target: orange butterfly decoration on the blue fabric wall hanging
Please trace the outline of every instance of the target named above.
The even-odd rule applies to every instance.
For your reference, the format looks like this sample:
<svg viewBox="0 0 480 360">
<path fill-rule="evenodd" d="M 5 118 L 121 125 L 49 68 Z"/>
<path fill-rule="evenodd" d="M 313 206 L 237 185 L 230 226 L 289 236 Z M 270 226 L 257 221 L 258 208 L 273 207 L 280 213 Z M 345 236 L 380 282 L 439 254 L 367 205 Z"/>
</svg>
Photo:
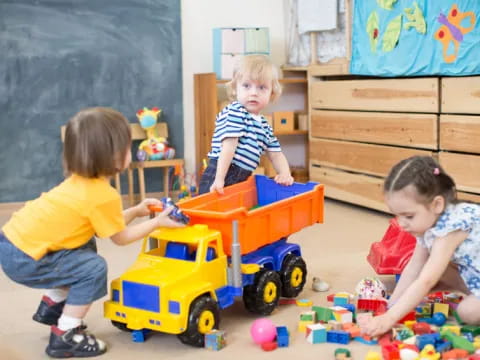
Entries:
<svg viewBox="0 0 480 360">
<path fill-rule="evenodd" d="M 470 18 L 470 26 L 464 27 L 462 22 L 464 19 Z M 448 12 L 448 16 L 443 13 L 437 18 L 438 22 L 442 24 L 440 28 L 433 35 L 435 40 L 440 41 L 443 46 L 443 59 L 446 63 L 452 63 L 457 59 L 458 49 L 460 43 L 463 41 L 463 36 L 475 27 L 475 14 L 473 11 L 460 12 L 457 4 L 453 4 Z M 449 47 L 453 43 L 453 54 L 449 53 Z"/>
</svg>

